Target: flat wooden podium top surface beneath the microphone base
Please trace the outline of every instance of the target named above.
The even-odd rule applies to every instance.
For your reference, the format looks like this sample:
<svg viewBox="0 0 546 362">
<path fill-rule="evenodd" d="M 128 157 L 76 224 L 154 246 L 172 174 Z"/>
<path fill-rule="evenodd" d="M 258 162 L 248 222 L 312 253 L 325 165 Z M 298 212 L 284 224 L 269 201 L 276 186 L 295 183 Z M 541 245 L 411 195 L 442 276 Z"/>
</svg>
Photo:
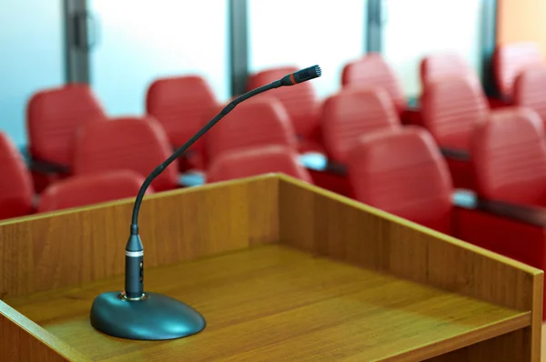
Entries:
<svg viewBox="0 0 546 362">
<path fill-rule="evenodd" d="M 531 323 L 530 312 L 271 245 L 148 270 L 150 289 L 196 307 L 207 328 L 168 342 L 126 341 L 96 332 L 88 321 L 96 294 L 120 282 L 6 302 L 102 361 L 413 361 Z"/>
</svg>

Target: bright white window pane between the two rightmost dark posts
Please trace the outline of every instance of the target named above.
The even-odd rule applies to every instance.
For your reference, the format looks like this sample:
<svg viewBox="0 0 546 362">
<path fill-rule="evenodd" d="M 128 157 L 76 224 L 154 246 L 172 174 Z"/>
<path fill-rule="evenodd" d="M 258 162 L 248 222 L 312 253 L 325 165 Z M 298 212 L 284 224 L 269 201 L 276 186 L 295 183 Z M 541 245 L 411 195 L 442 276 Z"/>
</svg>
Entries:
<svg viewBox="0 0 546 362">
<path fill-rule="evenodd" d="M 420 95 L 420 60 L 451 51 L 481 73 L 482 0 L 385 0 L 384 56 L 407 96 Z"/>
</svg>

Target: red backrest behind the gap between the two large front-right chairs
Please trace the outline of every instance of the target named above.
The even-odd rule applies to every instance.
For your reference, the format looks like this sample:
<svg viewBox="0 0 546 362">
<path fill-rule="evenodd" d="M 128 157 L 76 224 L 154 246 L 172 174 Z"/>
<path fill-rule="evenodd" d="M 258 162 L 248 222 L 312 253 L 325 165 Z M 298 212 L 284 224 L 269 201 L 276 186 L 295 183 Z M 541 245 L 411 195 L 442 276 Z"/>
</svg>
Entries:
<svg viewBox="0 0 546 362">
<path fill-rule="evenodd" d="M 488 113 L 485 96 L 467 78 L 438 79 L 421 97 L 423 126 L 442 147 L 468 150 L 474 125 Z"/>
</svg>

